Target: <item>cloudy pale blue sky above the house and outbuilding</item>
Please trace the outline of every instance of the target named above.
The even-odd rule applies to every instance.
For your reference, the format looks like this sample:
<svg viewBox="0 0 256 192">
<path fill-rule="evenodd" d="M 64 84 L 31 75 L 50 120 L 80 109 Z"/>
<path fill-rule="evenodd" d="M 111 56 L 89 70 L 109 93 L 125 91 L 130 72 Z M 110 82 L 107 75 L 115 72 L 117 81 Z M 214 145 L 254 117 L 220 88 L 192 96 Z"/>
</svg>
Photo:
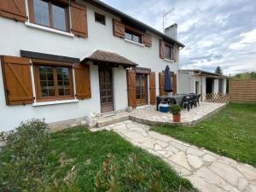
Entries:
<svg viewBox="0 0 256 192">
<path fill-rule="evenodd" d="M 226 75 L 256 71 L 256 0 L 102 0 L 163 31 L 177 23 L 180 68 Z"/>
</svg>

